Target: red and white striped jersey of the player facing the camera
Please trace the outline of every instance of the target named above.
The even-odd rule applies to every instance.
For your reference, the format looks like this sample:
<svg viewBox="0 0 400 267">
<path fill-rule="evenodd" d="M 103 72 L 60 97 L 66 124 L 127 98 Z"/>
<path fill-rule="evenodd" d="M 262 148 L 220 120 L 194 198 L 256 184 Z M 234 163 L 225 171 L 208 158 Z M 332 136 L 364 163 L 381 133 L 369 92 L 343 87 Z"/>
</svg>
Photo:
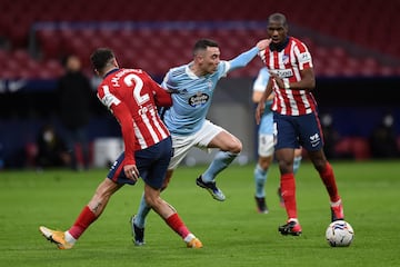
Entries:
<svg viewBox="0 0 400 267">
<path fill-rule="evenodd" d="M 303 42 L 289 37 L 289 42 L 280 51 L 267 48 L 259 56 L 267 68 L 277 73 L 283 81 L 294 82 L 301 80 L 300 70 L 312 68 L 311 55 Z M 299 116 L 311 113 L 317 102 L 309 90 L 291 90 L 279 88 L 273 82 L 274 99 L 271 109 L 281 115 Z"/>
</svg>

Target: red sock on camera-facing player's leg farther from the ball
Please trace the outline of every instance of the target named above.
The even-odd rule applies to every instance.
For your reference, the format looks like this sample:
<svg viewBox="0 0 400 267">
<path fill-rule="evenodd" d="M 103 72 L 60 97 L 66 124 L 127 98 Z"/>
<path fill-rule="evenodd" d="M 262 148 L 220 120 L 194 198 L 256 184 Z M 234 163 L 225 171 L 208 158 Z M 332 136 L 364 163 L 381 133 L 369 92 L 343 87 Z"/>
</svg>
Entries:
<svg viewBox="0 0 400 267">
<path fill-rule="evenodd" d="M 284 200 L 284 207 L 288 214 L 288 218 L 297 218 L 296 207 L 296 181 L 293 174 L 281 175 L 280 180 L 281 195 Z"/>
</svg>

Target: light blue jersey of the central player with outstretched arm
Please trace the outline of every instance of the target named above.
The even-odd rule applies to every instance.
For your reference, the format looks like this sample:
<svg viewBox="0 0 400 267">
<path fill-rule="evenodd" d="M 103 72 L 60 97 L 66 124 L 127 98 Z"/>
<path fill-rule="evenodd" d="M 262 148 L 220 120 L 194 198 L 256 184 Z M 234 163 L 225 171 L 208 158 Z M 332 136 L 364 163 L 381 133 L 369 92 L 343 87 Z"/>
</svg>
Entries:
<svg viewBox="0 0 400 267">
<path fill-rule="evenodd" d="M 173 105 L 163 115 L 163 121 L 170 132 L 188 136 L 200 130 L 219 79 L 226 77 L 229 71 L 247 66 L 258 51 L 254 47 L 230 61 L 221 60 L 216 72 L 202 77 L 191 71 L 192 62 L 170 69 L 161 85 L 172 91 Z"/>
</svg>

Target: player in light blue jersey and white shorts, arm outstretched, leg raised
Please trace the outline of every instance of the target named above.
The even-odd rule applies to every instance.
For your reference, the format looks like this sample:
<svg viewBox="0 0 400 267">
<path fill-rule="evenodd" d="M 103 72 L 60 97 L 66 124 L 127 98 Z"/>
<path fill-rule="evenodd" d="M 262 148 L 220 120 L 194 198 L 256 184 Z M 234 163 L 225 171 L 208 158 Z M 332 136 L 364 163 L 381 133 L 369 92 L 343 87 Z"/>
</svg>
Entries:
<svg viewBox="0 0 400 267">
<path fill-rule="evenodd" d="M 217 82 L 228 72 L 246 67 L 270 42 L 270 39 L 260 40 L 250 50 L 227 61 L 220 59 L 220 49 L 216 41 L 201 39 L 193 47 L 191 62 L 167 72 L 162 87 L 172 92 L 172 107 L 166 110 L 162 117 L 171 132 L 174 154 L 168 168 L 164 187 L 168 186 L 173 170 L 192 147 L 217 148 L 219 152 L 208 169 L 197 178 L 196 184 L 207 189 L 216 200 L 226 199 L 217 187 L 216 177 L 238 157 L 242 144 L 232 134 L 209 121 L 206 116 Z M 144 244 L 144 220 L 149 211 L 150 207 L 142 197 L 138 214 L 131 218 L 136 245 Z"/>
</svg>

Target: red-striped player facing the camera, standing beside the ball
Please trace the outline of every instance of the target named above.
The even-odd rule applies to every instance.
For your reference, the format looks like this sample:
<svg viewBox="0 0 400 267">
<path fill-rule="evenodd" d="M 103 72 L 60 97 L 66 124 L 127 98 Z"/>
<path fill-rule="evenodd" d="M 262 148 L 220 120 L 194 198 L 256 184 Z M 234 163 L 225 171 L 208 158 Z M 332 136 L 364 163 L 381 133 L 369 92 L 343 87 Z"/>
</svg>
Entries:
<svg viewBox="0 0 400 267">
<path fill-rule="evenodd" d="M 323 135 L 318 118 L 317 102 L 312 96 L 316 87 L 310 51 L 299 39 L 288 36 L 288 22 L 282 13 L 268 18 L 267 32 L 272 39 L 269 48 L 259 56 L 270 72 L 267 89 L 256 111 L 260 120 L 266 99 L 274 92 L 273 131 L 276 159 L 280 170 L 281 195 L 288 215 L 282 235 L 301 235 L 296 204 L 293 174 L 294 149 L 302 146 L 319 172 L 330 198 L 331 220 L 343 219 L 342 201 L 338 192 L 333 169 L 323 152 Z"/>
</svg>

